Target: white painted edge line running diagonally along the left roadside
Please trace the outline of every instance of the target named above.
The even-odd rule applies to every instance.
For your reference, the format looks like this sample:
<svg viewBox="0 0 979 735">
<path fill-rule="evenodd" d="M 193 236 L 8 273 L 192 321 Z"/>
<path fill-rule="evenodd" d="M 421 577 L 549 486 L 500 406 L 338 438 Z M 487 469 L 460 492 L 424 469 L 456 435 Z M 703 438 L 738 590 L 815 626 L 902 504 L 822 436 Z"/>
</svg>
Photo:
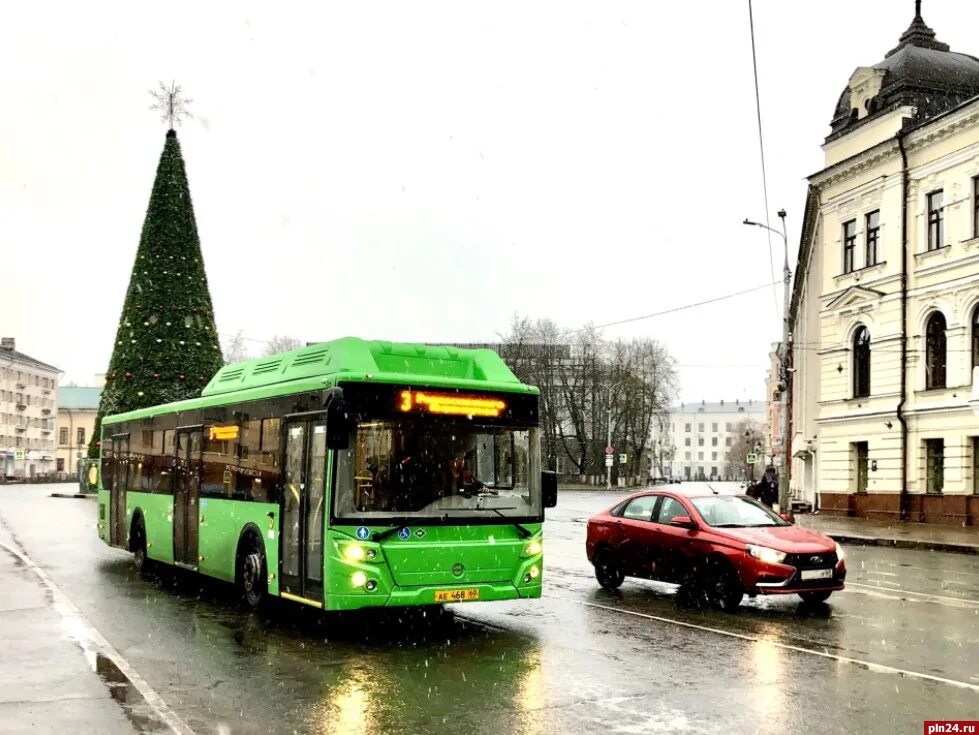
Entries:
<svg viewBox="0 0 979 735">
<path fill-rule="evenodd" d="M 170 709 L 167 703 L 163 701 L 163 697 L 157 694 L 156 690 L 136 672 L 136 669 L 123 658 L 122 654 L 95 629 L 85 615 L 82 614 L 82 611 L 75 607 L 75 604 L 68 598 L 68 595 L 62 592 L 61 588 L 48 576 L 47 572 L 41 569 L 27 554 L 21 552 L 19 549 L 8 546 L 2 541 L 0 541 L 0 547 L 3 547 L 24 562 L 37 575 L 41 583 L 47 587 L 48 592 L 51 593 L 53 607 L 61 615 L 62 626 L 75 642 L 81 646 L 86 658 L 91 659 L 94 658 L 95 654 L 98 654 L 109 659 L 126 676 L 129 683 L 142 695 L 146 704 L 153 709 L 157 717 L 160 718 L 160 721 L 170 728 L 171 732 L 175 733 L 175 735 L 196 735 L 187 723 L 181 720 L 177 713 Z"/>
</svg>

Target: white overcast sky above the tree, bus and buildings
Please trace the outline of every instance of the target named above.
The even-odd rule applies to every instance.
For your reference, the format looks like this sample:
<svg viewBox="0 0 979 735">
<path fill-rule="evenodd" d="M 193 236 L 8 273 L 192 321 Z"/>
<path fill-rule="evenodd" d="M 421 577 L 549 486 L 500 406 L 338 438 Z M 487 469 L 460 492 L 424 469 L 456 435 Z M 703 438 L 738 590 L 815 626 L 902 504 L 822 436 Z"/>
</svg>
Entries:
<svg viewBox="0 0 979 735">
<path fill-rule="evenodd" d="M 837 97 L 913 5 L 754 4 L 793 270 Z M 979 53 L 979 6 L 923 14 Z M 222 334 L 493 340 L 515 313 L 576 328 L 772 280 L 741 224 L 765 216 L 747 0 L 19 3 L 0 65 L 0 332 L 66 381 L 108 364 L 160 80 L 194 100 L 179 136 Z M 685 400 L 762 397 L 781 299 L 605 335 L 666 343 Z"/>
</svg>

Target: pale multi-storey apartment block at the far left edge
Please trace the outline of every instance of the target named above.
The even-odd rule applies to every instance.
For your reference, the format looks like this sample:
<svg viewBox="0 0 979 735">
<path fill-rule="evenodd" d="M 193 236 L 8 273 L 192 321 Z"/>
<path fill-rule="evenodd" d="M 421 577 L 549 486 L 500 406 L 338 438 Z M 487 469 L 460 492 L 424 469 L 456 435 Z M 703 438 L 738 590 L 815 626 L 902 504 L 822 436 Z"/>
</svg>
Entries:
<svg viewBox="0 0 979 735">
<path fill-rule="evenodd" d="M 58 369 L 0 340 L 0 480 L 53 475 Z"/>
</svg>

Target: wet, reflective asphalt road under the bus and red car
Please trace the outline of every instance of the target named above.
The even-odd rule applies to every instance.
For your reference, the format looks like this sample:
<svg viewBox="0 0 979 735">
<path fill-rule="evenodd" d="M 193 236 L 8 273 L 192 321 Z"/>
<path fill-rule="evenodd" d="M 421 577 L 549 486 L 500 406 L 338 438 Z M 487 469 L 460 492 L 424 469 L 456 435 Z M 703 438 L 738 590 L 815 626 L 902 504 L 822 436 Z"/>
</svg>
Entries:
<svg viewBox="0 0 979 735">
<path fill-rule="evenodd" d="M 974 556 L 849 547 L 826 605 L 690 610 L 669 585 L 600 590 L 584 521 L 619 495 L 565 492 L 541 600 L 256 616 L 223 584 L 140 578 L 96 537 L 93 501 L 49 497 L 65 487 L 0 487 L 0 530 L 197 733 L 897 735 L 979 718 Z"/>
</svg>

